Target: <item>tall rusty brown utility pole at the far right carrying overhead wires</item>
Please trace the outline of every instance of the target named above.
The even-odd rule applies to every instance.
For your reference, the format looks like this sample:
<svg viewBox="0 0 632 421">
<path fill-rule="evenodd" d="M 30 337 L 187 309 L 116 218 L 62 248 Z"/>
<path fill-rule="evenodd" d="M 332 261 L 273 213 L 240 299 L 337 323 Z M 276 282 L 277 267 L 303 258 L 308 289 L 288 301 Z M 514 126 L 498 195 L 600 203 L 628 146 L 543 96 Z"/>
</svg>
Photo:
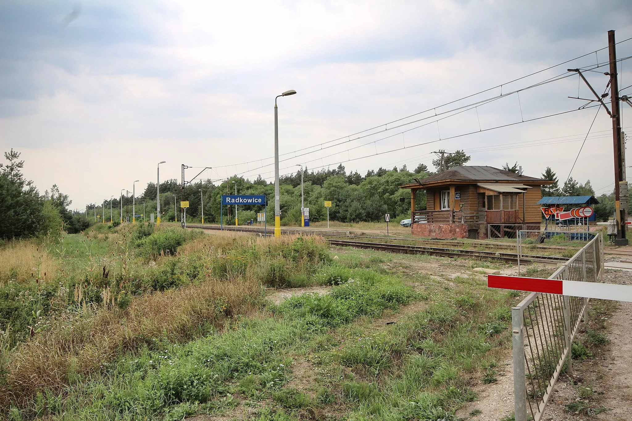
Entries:
<svg viewBox="0 0 632 421">
<path fill-rule="evenodd" d="M 617 215 L 617 238 L 616 246 L 627 246 L 626 238 L 626 208 L 628 207 L 627 196 L 623 198 L 624 208 L 621 208 L 621 182 L 625 182 L 624 159 L 625 151 L 621 148 L 621 113 L 619 110 L 619 81 L 617 80 L 617 50 L 614 41 L 614 30 L 608 31 L 608 52 L 610 59 L 610 100 L 612 110 L 612 146 L 614 149 L 614 200 Z M 627 193 L 627 188 L 625 189 Z"/>
</svg>

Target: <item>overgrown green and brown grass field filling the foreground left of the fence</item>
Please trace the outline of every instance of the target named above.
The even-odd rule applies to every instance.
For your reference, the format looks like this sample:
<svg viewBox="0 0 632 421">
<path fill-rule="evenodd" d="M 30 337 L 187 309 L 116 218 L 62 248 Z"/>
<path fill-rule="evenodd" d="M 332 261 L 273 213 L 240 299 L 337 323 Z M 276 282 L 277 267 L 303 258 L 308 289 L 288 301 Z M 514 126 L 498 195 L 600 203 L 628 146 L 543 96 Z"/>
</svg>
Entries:
<svg viewBox="0 0 632 421">
<path fill-rule="evenodd" d="M 23 283 L 44 293 L 42 328 L 3 340 L 0 411 L 456 420 L 510 345 L 514 297 L 475 278 L 419 273 L 428 256 L 334 255 L 319 237 L 182 233 L 104 225 L 60 239 L 49 251 L 61 258 L 56 278 Z M 263 299 L 265 287 L 310 285 L 331 291 Z M 27 301 L 11 295 L 0 310 L 11 304 L 32 323 Z"/>
</svg>

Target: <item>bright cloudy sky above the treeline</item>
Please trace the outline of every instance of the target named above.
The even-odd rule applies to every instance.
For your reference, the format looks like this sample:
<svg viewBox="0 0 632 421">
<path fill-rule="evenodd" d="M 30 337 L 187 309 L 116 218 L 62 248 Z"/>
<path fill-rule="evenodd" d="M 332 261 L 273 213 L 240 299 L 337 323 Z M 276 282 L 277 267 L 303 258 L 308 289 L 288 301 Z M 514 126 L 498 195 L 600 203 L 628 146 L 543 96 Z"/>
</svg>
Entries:
<svg viewBox="0 0 632 421">
<path fill-rule="evenodd" d="M 578 110 L 568 97 L 592 94 L 567 69 L 604 92 L 607 31 L 631 38 L 630 16 L 629 1 L 5 0 L 0 146 L 76 209 L 142 192 L 162 160 L 161 180 L 185 164 L 200 167 L 187 179 L 273 181 L 274 100 L 294 89 L 277 99 L 281 174 L 432 169 L 433 151 L 465 149 L 608 193 L 611 119 Z"/>
</svg>

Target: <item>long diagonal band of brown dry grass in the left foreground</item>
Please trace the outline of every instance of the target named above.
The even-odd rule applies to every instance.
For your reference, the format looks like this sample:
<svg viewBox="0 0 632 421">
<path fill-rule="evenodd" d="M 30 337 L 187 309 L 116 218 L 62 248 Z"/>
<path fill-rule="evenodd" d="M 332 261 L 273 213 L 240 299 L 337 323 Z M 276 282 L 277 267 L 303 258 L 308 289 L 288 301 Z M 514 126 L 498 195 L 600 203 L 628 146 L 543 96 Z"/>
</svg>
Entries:
<svg viewBox="0 0 632 421">
<path fill-rule="evenodd" d="M 145 295 L 133 300 L 125 311 L 101 309 L 72 326 L 37 335 L 9 355 L 0 408 L 23 404 L 42 389 L 59 390 L 157 338 L 186 341 L 205 324 L 221 328 L 227 317 L 255 311 L 263 295 L 252 278 L 209 279 L 200 285 Z"/>
</svg>

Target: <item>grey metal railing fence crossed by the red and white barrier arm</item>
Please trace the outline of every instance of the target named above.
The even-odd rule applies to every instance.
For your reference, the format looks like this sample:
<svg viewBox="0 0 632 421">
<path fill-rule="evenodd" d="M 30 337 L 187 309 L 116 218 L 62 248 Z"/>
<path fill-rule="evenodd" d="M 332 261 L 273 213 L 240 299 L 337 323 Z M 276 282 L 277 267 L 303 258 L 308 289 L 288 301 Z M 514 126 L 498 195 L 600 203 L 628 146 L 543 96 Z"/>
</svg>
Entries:
<svg viewBox="0 0 632 421">
<path fill-rule="evenodd" d="M 549 279 L 599 282 L 603 270 L 604 240 L 599 234 Z M 539 421 L 562 369 L 572 376 L 571 344 L 587 304 L 581 297 L 534 292 L 513 307 L 516 421 Z"/>
</svg>

